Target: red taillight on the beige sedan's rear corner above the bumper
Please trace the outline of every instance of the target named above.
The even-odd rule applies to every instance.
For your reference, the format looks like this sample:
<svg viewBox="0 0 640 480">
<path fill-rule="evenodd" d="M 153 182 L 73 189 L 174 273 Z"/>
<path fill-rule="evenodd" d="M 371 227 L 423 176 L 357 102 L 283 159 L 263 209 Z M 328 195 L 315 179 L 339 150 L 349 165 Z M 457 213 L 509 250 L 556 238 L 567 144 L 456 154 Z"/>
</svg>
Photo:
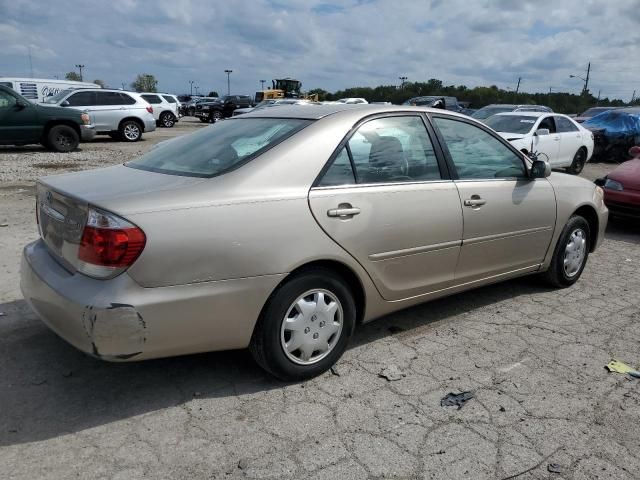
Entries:
<svg viewBox="0 0 640 480">
<path fill-rule="evenodd" d="M 82 232 L 78 258 L 92 265 L 122 268 L 130 266 L 144 249 L 146 237 L 134 228 L 96 228 Z"/>
</svg>

